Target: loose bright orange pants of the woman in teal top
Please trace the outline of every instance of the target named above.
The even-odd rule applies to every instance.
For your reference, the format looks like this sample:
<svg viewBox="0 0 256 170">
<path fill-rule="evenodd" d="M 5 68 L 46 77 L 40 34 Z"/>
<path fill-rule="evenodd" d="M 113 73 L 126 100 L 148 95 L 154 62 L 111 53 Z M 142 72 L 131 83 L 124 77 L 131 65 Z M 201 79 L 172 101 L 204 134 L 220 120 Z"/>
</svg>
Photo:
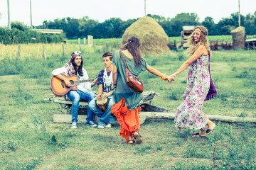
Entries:
<svg viewBox="0 0 256 170">
<path fill-rule="evenodd" d="M 136 110 L 128 110 L 125 99 L 122 98 L 117 104 L 113 104 L 112 113 L 117 117 L 117 120 L 121 126 L 119 135 L 124 137 L 128 142 L 128 135 L 134 135 L 140 128 L 139 112 L 142 108 L 139 106 Z"/>
</svg>

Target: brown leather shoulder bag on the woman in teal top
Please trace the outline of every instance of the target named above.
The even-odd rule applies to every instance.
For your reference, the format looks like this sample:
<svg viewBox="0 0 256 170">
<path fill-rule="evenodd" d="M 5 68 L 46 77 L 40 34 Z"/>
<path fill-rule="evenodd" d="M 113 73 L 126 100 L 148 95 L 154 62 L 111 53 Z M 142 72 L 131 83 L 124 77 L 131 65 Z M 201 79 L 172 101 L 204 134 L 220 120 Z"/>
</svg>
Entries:
<svg viewBox="0 0 256 170">
<path fill-rule="evenodd" d="M 122 52 L 119 51 L 120 56 L 122 57 L 122 61 L 124 62 L 124 57 L 122 55 Z M 137 77 L 134 77 L 131 72 L 129 72 L 129 69 L 127 69 L 127 64 L 124 62 L 125 67 L 125 81 L 127 86 L 129 86 L 130 89 L 132 89 L 137 94 L 141 94 L 143 92 L 143 81 Z"/>
</svg>

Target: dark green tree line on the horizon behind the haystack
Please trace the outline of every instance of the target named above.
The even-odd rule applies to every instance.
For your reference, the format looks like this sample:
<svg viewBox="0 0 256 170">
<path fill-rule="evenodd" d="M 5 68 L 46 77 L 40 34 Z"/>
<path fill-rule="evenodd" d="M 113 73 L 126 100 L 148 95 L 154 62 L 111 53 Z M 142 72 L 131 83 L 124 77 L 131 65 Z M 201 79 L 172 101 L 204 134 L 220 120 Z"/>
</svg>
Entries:
<svg viewBox="0 0 256 170">
<path fill-rule="evenodd" d="M 230 35 L 230 31 L 238 27 L 238 13 L 232 13 L 228 18 L 222 18 L 218 23 L 208 16 L 199 22 L 196 13 L 178 13 L 174 18 L 151 15 L 161 25 L 169 37 L 181 35 L 182 26 L 206 26 L 209 35 Z M 82 38 L 92 35 L 94 38 L 122 38 L 124 30 L 137 19 L 122 21 L 120 18 L 110 18 L 100 23 L 88 16 L 83 18 L 58 18 L 54 21 L 43 21 L 41 29 L 62 29 L 67 38 Z M 256 35 L 256 11 L 253 14 L 240 16 L 241 26 L 245 27 L 246 35 Z"/>
</svg>

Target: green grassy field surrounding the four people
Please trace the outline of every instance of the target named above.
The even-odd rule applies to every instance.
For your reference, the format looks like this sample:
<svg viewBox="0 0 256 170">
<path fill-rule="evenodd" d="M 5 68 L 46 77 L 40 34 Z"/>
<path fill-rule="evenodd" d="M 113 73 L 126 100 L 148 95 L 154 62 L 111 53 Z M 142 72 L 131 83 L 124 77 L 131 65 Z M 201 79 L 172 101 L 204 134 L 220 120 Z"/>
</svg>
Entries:
<svg viewBox="0 0 256 170">
<path fill-rule="evenodd" d="M 104 45 L 80 49 L 68 43 L 63 56 L 62 45 L 46 45 L 48 57 L 43 60 L 41 50 L 33 53 L 31 45 L 21 48 L 26 49 L 21 60 L 16 59 L 16 52 L 9 55 L 0 48 L 0 169 L 256 169 L 256 129 L 249 123 L 215 122 L 215 133 L 193 139 L 190 135 L 196 131 L 178 130 L 173 120 L 146 120 L 140 130 L 144 142 L 132 146 L 119 137 L 118 126 L 98 130 L 80 124 L 72 130 L 70 124 L 53 123 L 60 106 L 43 100 L 51 94 L 50 72 L 62 67 L 70 52 L 81 50 L 89 76 L 97 77 L 106 49 Z M 117 50 L 114 45 L 107 48 Z M 186 56 L 178 50 L 145 59 L 159 71 L 172 74 Z M 210 61 L 218 97 L 206 101 L 203 111 L 256 118 L 256 52 L 215 51 Z M 140 78 L 146 91 L 160 93 L 154 106 L 175 111 L 182 103 L 186 76 L 187 70 L 173 84 L 149 72 Z"/>
</svg>

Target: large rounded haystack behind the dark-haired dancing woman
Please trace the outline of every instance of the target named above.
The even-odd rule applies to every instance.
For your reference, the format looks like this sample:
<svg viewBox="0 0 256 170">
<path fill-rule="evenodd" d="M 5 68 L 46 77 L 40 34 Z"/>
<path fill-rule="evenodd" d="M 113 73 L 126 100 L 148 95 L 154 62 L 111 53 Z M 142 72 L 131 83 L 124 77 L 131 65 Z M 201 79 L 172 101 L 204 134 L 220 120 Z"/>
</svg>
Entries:
<svg viewBox="0 0 256 170">
<path fill-rule="evenodd" d="M 170 52 L 167 44 L 168 36 L 164 29 L 153 18 L 144 16 L 138 21 L 132 23 L 122 36 L 122 44 L 124 45 L 130 37 L 137 37 L 141 42 L 140 50 L 142 55 L 161 55 Z"/>
</svg>

